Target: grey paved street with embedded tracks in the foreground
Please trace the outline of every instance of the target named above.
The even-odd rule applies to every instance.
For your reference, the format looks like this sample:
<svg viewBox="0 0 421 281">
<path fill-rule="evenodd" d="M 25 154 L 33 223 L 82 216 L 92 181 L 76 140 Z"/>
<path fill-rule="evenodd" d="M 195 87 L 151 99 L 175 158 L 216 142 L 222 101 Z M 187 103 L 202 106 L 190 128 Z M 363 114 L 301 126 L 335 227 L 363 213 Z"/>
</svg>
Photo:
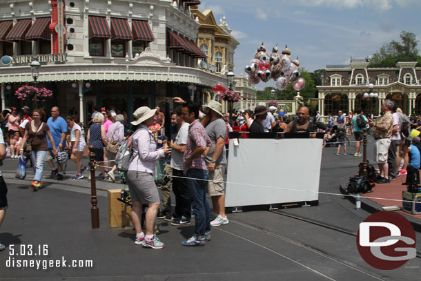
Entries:
<svg viewBox="0 0 421 281">
<path fill-rule="evenodd" d="M 360 161 L 325 148 L 320 191 L 339 193 L 339 185 L 357 171 Z M 0 242 L 14 244 L 16 253 L 26 255 L 0 252 L 0 280 L 421 280 L 420 258 L 392 271 L 374 269 L 362 260 L 352 233 L 370 213 L 355 210 L 340 195 L 321 194 L 319 206 L 228 214 L 230 224 L 213 228 L 212 240 L 193 249 L 181 244 L 192 235 L 193 225 L 177 227 L 157 220 L 166 247 L 154 251 L 136 246 L 134 235 L 107 224 L 106 190 L 121 184 L 97 182 L 100 228 L 91 229 L 89 183 L 70 179 L 74 165 L 69 162 L 65 180 L 46 180 L 38 192 L 29 187 L 32 171 L 24 181 L 14 179 L 16 165 L 17 160 L 7 159 L 1 167 L 10 207 Z M 47 251 L 34 251 L 37 256 L 23 251 L 38 245 L 48 245 Z M 6 267 L 8 260 L 62 259 L 67 266 L 71 260 L 92 260 L 93 267 Z"/>
</svg>

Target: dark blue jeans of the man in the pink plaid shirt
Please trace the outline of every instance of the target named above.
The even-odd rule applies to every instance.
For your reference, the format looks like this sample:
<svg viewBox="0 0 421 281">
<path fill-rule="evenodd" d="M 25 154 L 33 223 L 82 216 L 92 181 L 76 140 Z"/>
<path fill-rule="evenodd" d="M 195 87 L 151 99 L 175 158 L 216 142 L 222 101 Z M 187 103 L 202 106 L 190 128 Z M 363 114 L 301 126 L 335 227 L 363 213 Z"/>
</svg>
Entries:
<svg viewBox="0 0 421 281">
<path fill-rule="evenodd" d="M 208 171 L 190 168 L 187 171 L 187 186 L 193 199 L 192 206 L 195 213 L 195 235 L 198 240 L 204 240 L 205 233 L 210 232 L 210 208 L 206 198 Z M 193 180 L 203 179 L 203 180 Z"/>
</svg>

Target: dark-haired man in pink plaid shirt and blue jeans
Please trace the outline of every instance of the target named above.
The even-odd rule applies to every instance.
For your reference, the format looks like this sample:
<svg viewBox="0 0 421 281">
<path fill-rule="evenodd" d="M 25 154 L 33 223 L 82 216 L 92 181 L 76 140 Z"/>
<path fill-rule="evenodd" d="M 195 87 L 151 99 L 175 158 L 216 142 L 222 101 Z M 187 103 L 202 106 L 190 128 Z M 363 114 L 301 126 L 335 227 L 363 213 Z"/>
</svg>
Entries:
<svg viewBox="0 0 421 281">
<path fill-rule="evenodd" d="M 204 161 L 205 151 L 209 151 L 212 142 L 204 126 L 199 122 L 199 105 L 184 104 L 182 115 L 189 123 L 186 151 L 184 151 L 184 174 L 188 177 L 187 186 L 193 199 L 193 212 L 195 213 L 195 234 L 192 238 L 183 241 L 184 246 L 204 245 L 210 240 L 210 208 L 206 199 L 208 186 L 208 167 Z"/>
</svg>

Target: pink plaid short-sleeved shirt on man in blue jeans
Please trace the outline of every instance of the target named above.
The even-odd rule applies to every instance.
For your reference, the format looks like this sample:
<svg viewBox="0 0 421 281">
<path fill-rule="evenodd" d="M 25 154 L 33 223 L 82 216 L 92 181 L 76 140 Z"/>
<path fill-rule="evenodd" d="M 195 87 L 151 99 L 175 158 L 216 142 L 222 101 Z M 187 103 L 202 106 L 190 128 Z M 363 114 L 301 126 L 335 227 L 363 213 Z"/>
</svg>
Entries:
<svg viewBox="0 0 421 281">
<path fill-rule="evenodd" d="M 197 147 L 210 147 L 212 146 L 212 141 L 206 134 L 204 126 L 200 123 L 199 119 L 195 119 L 190 126 L 188 126 L 188 137 L 186 151 L 184 151 L 184 159 L 193 153 Z M 187 173 L 187 170 L 190 168 L 197 168 L 200 170 L 208 170 L 204 160 L 204 153 L 200 157 L 192 159 L 189 164 L 184 162 L 184 174 Z"/>
</svg>

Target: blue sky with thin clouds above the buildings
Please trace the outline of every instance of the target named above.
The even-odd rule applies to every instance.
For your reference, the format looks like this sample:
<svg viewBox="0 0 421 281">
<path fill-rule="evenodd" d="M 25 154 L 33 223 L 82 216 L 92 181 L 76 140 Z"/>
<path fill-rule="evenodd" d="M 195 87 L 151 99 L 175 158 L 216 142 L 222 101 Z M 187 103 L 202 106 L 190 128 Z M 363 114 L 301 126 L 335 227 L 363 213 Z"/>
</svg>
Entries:
<svg viewBox="0 0 421 281">
<path fill-rule="evenodd" d="M 350 57 L 372 55 L 383 43 L 400 40 L 402 30 L 421 39 L 420 0 L 201 0 L 200 11 L 212 10 L 217 22 L 225 15 L 240 41 L 235 50 L 235 75 L 253 59 L 264 42 L 278 43 L 314 71 L 326 64 L 347 64 Z M 420 50 L 420 42 L 418 43 Z M 260 82 L 258 88 L 273 86 Z"/>
</svg>

